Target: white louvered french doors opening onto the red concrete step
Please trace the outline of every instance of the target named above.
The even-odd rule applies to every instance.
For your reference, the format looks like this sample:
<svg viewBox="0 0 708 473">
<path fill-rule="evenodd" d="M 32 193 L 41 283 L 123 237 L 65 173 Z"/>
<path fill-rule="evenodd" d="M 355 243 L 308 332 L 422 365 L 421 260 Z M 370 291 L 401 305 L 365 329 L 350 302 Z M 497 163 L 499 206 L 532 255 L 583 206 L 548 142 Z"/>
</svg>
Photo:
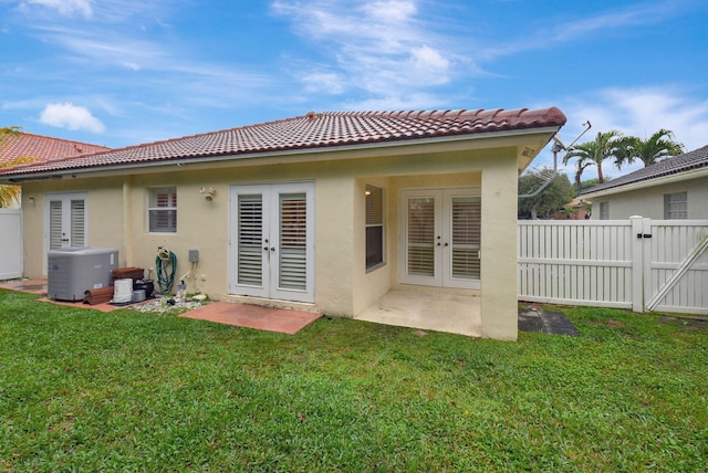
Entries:
<svg viewBox="0 0 708 473">
<path fill-rule="evenodd" d="M 314 302 L 314 185 L 232 186 L 231 294 Z"/>
</svg>

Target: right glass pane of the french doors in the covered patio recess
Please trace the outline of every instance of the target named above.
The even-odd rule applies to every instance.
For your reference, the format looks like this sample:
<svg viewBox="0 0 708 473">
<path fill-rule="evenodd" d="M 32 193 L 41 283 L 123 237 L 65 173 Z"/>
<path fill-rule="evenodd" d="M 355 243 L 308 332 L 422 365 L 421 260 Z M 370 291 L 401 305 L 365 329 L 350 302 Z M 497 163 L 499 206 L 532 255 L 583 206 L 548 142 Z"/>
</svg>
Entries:
<svg viewBox="0 0 708 473">
<path fill-rule="evenodd" d="M 481 200 L 479 197 L 452 198 L 451 276 L 480 278 Z"/>
</svg>

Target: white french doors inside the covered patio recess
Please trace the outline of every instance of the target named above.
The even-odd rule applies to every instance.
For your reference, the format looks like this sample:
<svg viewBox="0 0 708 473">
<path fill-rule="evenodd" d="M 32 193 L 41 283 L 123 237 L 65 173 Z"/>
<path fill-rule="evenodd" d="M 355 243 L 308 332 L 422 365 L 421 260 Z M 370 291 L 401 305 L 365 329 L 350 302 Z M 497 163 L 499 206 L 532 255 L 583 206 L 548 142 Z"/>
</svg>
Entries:
<svg viewBox="0 0 708 473">
<path fill-rule="evenodd" d="M 479 189 L 400 192 L 400 282 L 480 288 Z"/>
</svg>

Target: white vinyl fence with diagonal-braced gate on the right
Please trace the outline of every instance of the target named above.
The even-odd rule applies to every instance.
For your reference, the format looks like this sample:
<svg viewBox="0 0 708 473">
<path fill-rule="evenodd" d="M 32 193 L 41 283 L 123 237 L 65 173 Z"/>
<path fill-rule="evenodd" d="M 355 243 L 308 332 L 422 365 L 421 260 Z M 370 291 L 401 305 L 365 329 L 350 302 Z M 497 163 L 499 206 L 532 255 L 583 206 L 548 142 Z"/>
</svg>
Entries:
<svg viewBox="0 0 708 473">
<path fill-rule="evenodd" d="M 708 314 L 708 221 L 519 221 L 520 301 Z"/>
</svg>

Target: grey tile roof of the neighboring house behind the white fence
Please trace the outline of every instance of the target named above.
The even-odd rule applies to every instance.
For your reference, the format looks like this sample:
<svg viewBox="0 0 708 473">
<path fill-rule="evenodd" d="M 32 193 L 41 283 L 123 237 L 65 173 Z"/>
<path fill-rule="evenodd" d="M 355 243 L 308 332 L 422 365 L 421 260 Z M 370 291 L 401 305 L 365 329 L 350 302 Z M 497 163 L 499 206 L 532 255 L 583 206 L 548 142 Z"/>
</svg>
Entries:
<svg viewBox="0 0 708 473">
<path fill-rule="evenodd" d="M 581 192 L 581 195 L 595 193 L 607 189 L 615 189 L 636 182 L 706 167 L 708 167 L 708 146 L 704 146 L 702 148 L 695 149 L 684 155 L 663 159 L 645 168 L 638 169 L 634 172 L 629 172 L 628 175 L 620 176 L 616 179 L 612 179 L 607 182 L 603 182 L 595 187 L 591 187 L 590 189 L 585 189 Z"/>
</svg>

